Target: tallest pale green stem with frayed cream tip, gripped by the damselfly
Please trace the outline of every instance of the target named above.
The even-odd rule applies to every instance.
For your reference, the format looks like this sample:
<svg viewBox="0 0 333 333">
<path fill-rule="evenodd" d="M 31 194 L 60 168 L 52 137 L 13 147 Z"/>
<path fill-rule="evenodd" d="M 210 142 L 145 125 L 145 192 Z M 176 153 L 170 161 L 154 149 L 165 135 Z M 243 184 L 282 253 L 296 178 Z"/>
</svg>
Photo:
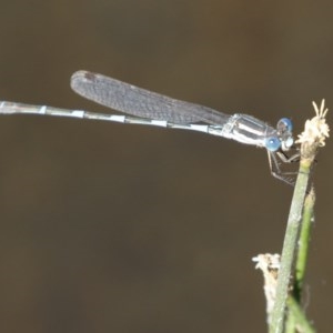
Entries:
<svg viewBox="0 0 333 333">
<path fill-rule="evenodd" d="M 325 120 L 325 115 L 329 111 L 329 109 L 325 108 L 325 100 L 322 100 L 320 108 L 314 102 L 312 102 L 312 104 L 314 107 L 316 115 L 305 122 L 304 131 L 299 135 L 299 140 L 296 141 L 296 143 L 301 143 L 300 170 L 287 219 L 281 256 L 281 265 L 278 274 L 276 296 L 270 317 L 270 333 L 282 333 L 284 329 L 285 305 L 289 294 L 290 281 L 293 276 L 293 263 L 295 261 L 297 252 L 297 240 L 301 229 L 303 203 L 306 189 L 309 186 L 309 175 L 317 149 L 320 147 L 324 147 L 325 139 L 330 137 L 330 128 Z M 309 213 L 310 220 L 311 215 L 312 209 Z M 302 289 L 305 262 L 307 258 L 309 228 L 307 231 L 305 231 L 303 242 L 305 242 L 306 245 L 305 250 L 301 249 L 302 252 L 300 252 L 300 264 L 297 265 L 299 271 L 296 273 L 299 283 L 296 287 L 299 289 L 299 292 L 301 292 Z M 304 246 L 304 244 L 302 246 Z M 297 299 L 300 299 L 300 296 L 301 294 L 297 295 Z M 299 300 L 295 301 L 297 302 Z M 294 322 L 294 319 L 292 319 L 291 322 Z M 294 322 L 294 324 L 297 325 L 296 322 Z"/>
</svg>

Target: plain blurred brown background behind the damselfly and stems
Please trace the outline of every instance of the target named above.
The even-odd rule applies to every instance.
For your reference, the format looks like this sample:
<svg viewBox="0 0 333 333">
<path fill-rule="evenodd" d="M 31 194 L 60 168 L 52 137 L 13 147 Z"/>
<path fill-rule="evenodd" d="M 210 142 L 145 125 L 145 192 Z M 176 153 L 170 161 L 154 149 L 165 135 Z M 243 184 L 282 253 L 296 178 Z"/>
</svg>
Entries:
<svg viewBox="0 0 333 333">
<path fill-rule="evenodd" d="M 332 1 L 1 1 L 1 99 L 103 110 L 79 69 L 299 133 L 333 109 Z M 110 111 L 111 112 L 111 111 Z M 329 114 L 329 121 L 332 115 Z M 188 131 L 0 118 L 1 332 L 265 332 L 251 258 L 292 189 L 264 150 Z M 333 151 L 315 172 L 307 313 L 332 326 Z"/>
</svg>

